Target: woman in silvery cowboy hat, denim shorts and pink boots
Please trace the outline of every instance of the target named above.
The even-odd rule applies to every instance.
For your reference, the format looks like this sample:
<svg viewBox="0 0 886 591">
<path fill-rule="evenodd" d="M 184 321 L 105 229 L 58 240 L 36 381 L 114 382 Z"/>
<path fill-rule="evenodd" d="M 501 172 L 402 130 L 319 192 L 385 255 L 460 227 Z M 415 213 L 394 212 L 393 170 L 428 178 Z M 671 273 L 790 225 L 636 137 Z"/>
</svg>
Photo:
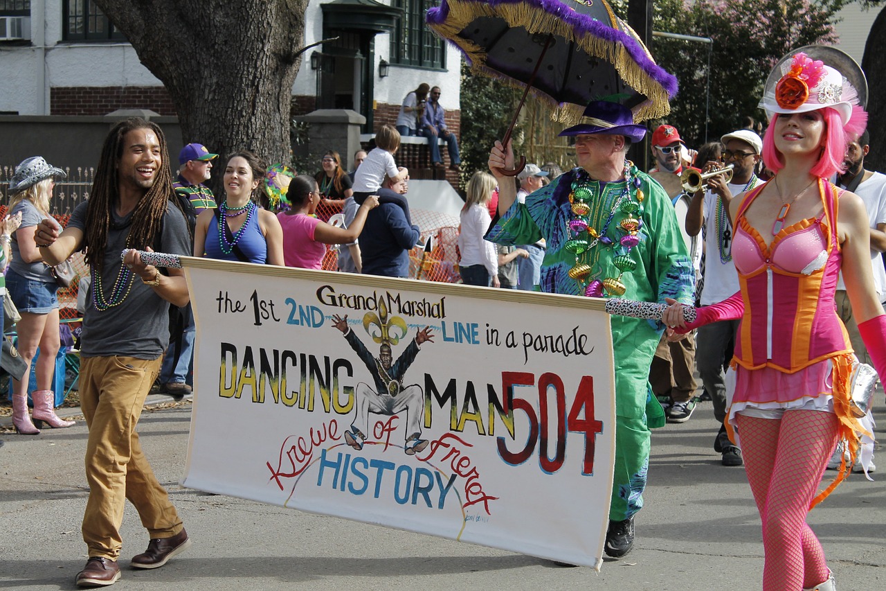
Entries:
<svg viewBox="0 0 886 591">
<path fill-rule="evenodd" d="M 27 415 L 27 386 L 31 360 L 40 349 L 36 366 L 34 421 L 46 422 L 60 429 L 71 427 L 74 421 L 63 421 L 55 414 L 55 392 L 52 376 L 55 374 L 56 355 L 61 346 L 58 335 L 58 283 L 50 266 L 43 264 L 43 256 L 34 239 L 35 226 L 50 217 L 52 187 L 57 179 L 65 178 L 65 171 L 50 166 L 41 156 L 21 162 L 9 184 L 12 198 L 9 209 L 12 216 L 21 216 L 19 229 L 12 237 L 12 261 L 6 272 L 6 289 L 19 309 L 21 319 L 16 325 L 19 336 L 19 354 L 27 363 L 23 380 L 12 380 L 12 424 L 21 435 L 40 433 Z"/>
</svg>

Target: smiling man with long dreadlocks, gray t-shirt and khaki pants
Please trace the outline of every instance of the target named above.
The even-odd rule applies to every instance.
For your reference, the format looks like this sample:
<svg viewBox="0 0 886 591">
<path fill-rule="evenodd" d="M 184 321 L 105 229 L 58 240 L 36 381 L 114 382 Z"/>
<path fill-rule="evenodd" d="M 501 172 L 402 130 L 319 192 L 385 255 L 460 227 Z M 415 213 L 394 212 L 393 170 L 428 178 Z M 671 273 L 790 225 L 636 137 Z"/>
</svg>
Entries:
<svg viewBox="0 0 886 591">
<path fill-rule="evenodd" d="M 147 551 L 132 559 L 133 567 L 158 568 L 190 545 L 136 433 L 167 347 L 169 303 L 189 301 L 180 269 L 160 272 L 136 253 L 190 254 L 185 218 L 170 200 L 173 180 L 166 158 L 166 138 L 156 124 L 118 123 L 105 138 L 89 200 L 74 209 L 64 232 L 51 220 L 35 232 L 44 261 L 57 264 L 82 249 L 92 276 L 80 374 L 80 403 L 89 426 L 89 500 L 82 525 L 89 561 L 77 574 L 79 587 L 104 587 L 120 579 L 120 524 L 127 499 L 151 536 Z M 121 262 L 124 248 L 133 250 Z"/>
</svg>

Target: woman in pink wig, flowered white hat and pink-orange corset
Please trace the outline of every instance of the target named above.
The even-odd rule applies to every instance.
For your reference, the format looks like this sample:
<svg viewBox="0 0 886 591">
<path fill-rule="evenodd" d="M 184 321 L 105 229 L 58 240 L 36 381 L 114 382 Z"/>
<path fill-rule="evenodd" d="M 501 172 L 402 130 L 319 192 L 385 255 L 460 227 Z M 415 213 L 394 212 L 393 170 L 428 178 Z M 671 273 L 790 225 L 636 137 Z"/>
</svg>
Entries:
<svg viewBox="0 0 886 591">
<path fill-rule="evenodd" d="M 851 60 L 833 63 L 864 81 Z M 874 366 L 886 375 L 886 315 L 874 290 L 867 212 L 857 195 L 828 181 L 867 123 L 857 89 L 836 67 L 794 52 L 766 83 L 760 106 L 772 118 L 763 161 L 776 174 L 730 207 L 741 290 L 699 309 L 694 323 L 683 322 L 679 304 L 664 313 L 668 325 L 684 327 L 678 332 L 742 319 L 727 429 L 741 436 L 763 522 L 765 591 L 835 589 L 806 515 L 851 468 L 844 462 L 816 494 L 837 440 L 848 442 L 854 461 L 865 432 L 851 412 L 854 355 L 834 307 L 840 272 Z"/>
</svg>

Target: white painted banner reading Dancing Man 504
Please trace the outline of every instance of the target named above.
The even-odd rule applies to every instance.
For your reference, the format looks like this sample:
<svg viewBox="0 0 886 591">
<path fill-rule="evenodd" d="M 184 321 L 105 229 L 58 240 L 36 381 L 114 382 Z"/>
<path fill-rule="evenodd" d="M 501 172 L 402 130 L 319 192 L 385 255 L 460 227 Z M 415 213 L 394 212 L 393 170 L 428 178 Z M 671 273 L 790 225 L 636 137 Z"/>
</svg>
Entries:
<svg viewBox="0 0 886 591">
<path fill-rule="evenodd" d="M 598 301 L 182 260 L 183 485 L 599 569 L 615 407 Z"/>
</svg>

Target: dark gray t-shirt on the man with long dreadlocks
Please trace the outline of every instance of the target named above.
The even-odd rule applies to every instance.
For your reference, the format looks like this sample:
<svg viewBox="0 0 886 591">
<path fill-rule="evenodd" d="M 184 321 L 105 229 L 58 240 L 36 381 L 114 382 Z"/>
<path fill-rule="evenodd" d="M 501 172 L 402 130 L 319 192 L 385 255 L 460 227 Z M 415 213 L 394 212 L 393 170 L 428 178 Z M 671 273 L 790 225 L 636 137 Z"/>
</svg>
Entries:
<svg viewBox="0 0 886 591">
<path fill-rule="evenodd" d="M 74 209 L 68 227 L 86 231 L 87 202 Z M 105 247 L 105 270 L 100 282 L 93 277 L 86 299 L 83 315 L 82 357 L 135 357 L 157 359 L 166 351 L 169 342 L 169 303 L 158 296 L 153 288 L 144 285 L 138 275 L 133 275 L 132 288 L 123 301 L 105 311 L 99 311 L 93 300 L 93 290 L 100 283 L 105 301 L 111 301 L 114 281 L 123 266 L 120 252 L 126 248 L 126 239 L 132 222 L 132 214 L 119 217 L 111 214 L 112 227 L 108 231 Z M 167 204 L 163 217 L 163 232 L 159 251 L 174 255 L 190 255 L 190 235 L 182 212 L 172 203 Z M 124 287 L 128 288 L 128 285 Z"/>
</svg>

